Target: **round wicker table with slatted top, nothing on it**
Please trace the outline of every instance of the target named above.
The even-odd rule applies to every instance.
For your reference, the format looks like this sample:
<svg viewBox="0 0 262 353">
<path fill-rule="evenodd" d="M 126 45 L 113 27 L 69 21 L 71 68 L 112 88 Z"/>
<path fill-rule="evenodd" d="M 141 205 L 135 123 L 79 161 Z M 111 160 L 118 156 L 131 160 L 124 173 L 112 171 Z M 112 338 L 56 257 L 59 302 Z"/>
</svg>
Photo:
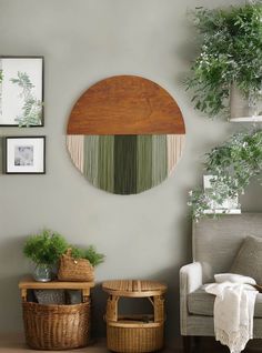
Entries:
<svg viewBox="0 0 262 353">
<path fill-rule="evenodd" d="M 167 285 L 155 281 L 118 280 L 102 284 L 109 294 L 107 304 L 107 343 L 114 352 L 153 352 L 163 347 L 164 299 Z M 121 297 L 147 297 L 153 315 L 118 314 Z"/>
</svg>

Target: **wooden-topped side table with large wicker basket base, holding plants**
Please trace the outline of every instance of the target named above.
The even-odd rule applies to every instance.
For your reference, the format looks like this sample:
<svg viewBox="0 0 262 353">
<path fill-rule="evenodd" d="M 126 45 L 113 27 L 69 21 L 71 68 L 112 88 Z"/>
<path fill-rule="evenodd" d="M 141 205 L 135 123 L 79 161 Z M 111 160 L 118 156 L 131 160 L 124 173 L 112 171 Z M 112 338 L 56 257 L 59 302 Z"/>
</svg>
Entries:
<svg viewBox="0 0 262 353">
<path fill-rule="evenodd" d="M 90 341 L 90 289 L 93 282 L 37 282 L 27 276 L 19 282 L 27 344 L 37 350 L 70 350 Z M 80 290 L 82 303 L 43 305 L 28 302 L 28 290 Z"/>
</svg>

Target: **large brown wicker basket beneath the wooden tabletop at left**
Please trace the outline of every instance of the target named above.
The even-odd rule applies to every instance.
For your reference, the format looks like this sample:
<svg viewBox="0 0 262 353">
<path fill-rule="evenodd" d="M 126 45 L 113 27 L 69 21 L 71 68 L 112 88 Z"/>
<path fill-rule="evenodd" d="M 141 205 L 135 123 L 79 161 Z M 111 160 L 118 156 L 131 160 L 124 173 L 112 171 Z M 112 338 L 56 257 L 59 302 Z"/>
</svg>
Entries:
<svg viewBox="0 0 262 353">
<path fill-rule="evenodd" d="M 26 342 L 37 350 L 69 350 L 90 340 L 90 301 L 77 305 L 24 302 Z"/>
</svg>

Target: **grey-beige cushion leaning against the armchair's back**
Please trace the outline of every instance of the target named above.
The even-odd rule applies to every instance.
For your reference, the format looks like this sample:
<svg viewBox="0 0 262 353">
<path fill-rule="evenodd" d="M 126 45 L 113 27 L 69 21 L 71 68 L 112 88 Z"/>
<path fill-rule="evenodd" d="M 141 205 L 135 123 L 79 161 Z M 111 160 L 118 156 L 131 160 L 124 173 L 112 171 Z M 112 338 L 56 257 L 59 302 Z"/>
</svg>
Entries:
<svg viewBox="0 0 262 353">
<path fill-rule="evenodd" d="M 262 239 L 246 236 L 236 254 L 230 272 L 253 278 L 262 284 Z"/>
</svg>

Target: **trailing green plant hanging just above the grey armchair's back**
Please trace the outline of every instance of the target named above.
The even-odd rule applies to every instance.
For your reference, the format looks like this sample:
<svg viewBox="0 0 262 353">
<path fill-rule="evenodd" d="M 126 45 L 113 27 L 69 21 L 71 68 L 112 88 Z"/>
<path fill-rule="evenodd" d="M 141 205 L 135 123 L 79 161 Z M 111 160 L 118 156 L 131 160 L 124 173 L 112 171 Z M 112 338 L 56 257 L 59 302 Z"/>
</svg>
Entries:
<svg viewBox="0 0 262 353">
<path fill-rule="evenodd" d="M 188 204 L 193 219 L 200 219 L 212 202 L 222 205 L 244 192 L 252 178 L 262 181 L 262 130 L 236 133 L 220 147 L 206 153 L 204 163 L 211 188 L 190 191 Z"/>
</svg>

